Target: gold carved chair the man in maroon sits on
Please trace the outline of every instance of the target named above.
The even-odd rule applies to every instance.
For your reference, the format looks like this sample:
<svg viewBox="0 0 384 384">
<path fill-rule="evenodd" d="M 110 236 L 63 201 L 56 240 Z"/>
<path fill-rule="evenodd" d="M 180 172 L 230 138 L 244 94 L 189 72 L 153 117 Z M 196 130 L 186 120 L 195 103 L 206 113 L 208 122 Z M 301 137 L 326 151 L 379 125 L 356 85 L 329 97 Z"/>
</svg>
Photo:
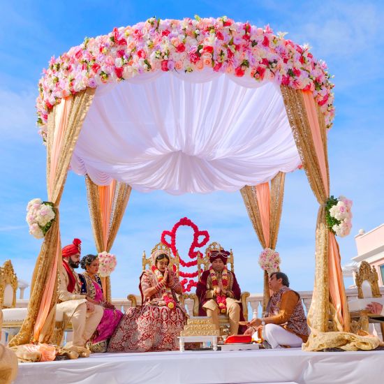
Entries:
<svg viewBox="0 0 384 384">
<path fill-rule="evenodd" d="M 209 244 L 209 246 L 207 246 L 207 249 L 205 249 L 204 256 L 198 257 L 198 265 L 197 265 L 197 267 L 198 267 L 198 278 L 199 278 L 199 280 L 200 280 L 200 277 L 201 277 L 201 274 L 202 274 L 201 270 L 207 271 L 207 269 L 209 268 L 209 265 L 211 264 L 209 262 L 209 256 L 210 256 L 211 252 L 214 251 L 214 250 L 219 251 L 219 250 L 222 250 L 222 249 L 223 249 L 223 247 L 218 242 L 212 242 L 211 244 Z M 230 272 L 235 273 L 232 249 L 230 249 L 230 255 L 228 256 L 227 267 L 228 267 L 228 270 Z M 249 297 L 249 295 L 250 295 L 249 292 L 242 292 L 241 297 L 240 297 L 240 300 L 242 302 L 243 315 L 244 315 L 245 319 L 248 318 L 248 307 L 247 307 L 246 298 Z M 193 316 L 199 316 L 199 300 L 198 300 L 198 296 L 195 293 L 191 293 L 189 295 L 189 298 L 191 300 L 193 300 Z M 223 329 L 225 327 L 228 327 L 228 325 L 229 325 L 228 316 L 227 315 L 220 315 L 219 316 L 219 323 L 220 323 L 221 332 L 223 332 Z"/>
</svg>

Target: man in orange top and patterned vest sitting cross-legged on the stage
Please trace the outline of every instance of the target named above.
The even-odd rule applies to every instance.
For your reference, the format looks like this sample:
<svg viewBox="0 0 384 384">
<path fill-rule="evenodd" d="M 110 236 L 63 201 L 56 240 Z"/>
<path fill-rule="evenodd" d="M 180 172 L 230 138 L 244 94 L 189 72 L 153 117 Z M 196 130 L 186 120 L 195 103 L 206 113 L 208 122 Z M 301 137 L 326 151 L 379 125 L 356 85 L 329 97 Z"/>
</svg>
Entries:
<svg viewBox="0 0 384 384">
<path fill-rule="evenodd" d="M 245 334 L 257 334 L 267 341 L 267 348 L 300 347 L 307 341 L 309 331 L 300 295 L 289 287 L 288 276 L 274 272 L 269 276 L 269 299 L 264 318 L 255 318 L 246 325 Z M 262 332 L 260 332 L 262 331 Z M 258 337 L 253 337 L 257 339 Z"/>
</svg>

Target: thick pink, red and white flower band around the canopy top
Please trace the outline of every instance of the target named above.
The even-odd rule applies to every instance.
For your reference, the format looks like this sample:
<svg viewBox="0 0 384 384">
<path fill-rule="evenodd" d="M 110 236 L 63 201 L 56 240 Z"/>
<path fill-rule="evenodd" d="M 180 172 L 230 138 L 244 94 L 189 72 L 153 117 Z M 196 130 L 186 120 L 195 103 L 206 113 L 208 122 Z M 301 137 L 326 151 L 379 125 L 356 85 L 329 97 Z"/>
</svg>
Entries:
<svg viewBox="0 0 384 384">
<path fill-rule="evenodd" d="M 85 38 L 60 57 L 50 60 L 38 83 L 38 125 L 45 138 L 47 115 L 61 98 L 87 87 L 119 82 L 141 73 L 191 73 L 211 68 L 255 81 L 274 80 L 294 89 L 311 91 L 332 126 L 334 106 L 330 75 L 324 61 L 309 46 L 297 45 L 248 22 L 228 17 L 160 20 L 152 17 L 132 27 L 115 28 L 108 35 Z"/>
</svg>

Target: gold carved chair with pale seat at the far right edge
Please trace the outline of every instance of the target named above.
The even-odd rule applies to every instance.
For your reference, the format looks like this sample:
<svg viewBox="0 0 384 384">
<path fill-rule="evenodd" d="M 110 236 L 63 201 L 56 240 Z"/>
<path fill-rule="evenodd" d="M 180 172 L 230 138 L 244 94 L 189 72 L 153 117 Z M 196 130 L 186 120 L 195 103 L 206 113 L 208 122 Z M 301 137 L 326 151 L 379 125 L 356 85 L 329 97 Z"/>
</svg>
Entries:
<svg viewBox="0 0 384 384">
<path fill-rule="evenodd" d="M 370 302 L 384 304 L 378 287 L 376 268 L 371 267 L 366 261 L 362 261 L 355 273 L 355 283 L 357 286 L 357 299 L 348 302 L 352 332 L 357 332 L 360 329 L 368 332 L 369 323 L 381 323 L 381 332 L 384 334 L 384 324 L 380 320 L 383 317 L 370 313 L 365 309 Z"/>
</svg>

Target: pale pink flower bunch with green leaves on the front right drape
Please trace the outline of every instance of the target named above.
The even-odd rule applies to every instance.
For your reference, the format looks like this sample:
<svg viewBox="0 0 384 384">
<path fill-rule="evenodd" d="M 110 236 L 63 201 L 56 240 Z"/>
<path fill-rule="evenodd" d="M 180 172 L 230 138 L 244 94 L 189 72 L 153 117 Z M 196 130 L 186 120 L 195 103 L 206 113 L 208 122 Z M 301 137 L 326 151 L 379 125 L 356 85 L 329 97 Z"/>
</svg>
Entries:
<svg viewBox="0 0 384 384">
<path fill-rule="evenodd" d="M 344 237 L 348 236 L 352 228 L 352 200 L 348 200 L 344 196 L 334 198 L 331 196 L 327 200 L 325 208 L 325 219 L 327 226 L 335 235 Z"/>
</svg>

